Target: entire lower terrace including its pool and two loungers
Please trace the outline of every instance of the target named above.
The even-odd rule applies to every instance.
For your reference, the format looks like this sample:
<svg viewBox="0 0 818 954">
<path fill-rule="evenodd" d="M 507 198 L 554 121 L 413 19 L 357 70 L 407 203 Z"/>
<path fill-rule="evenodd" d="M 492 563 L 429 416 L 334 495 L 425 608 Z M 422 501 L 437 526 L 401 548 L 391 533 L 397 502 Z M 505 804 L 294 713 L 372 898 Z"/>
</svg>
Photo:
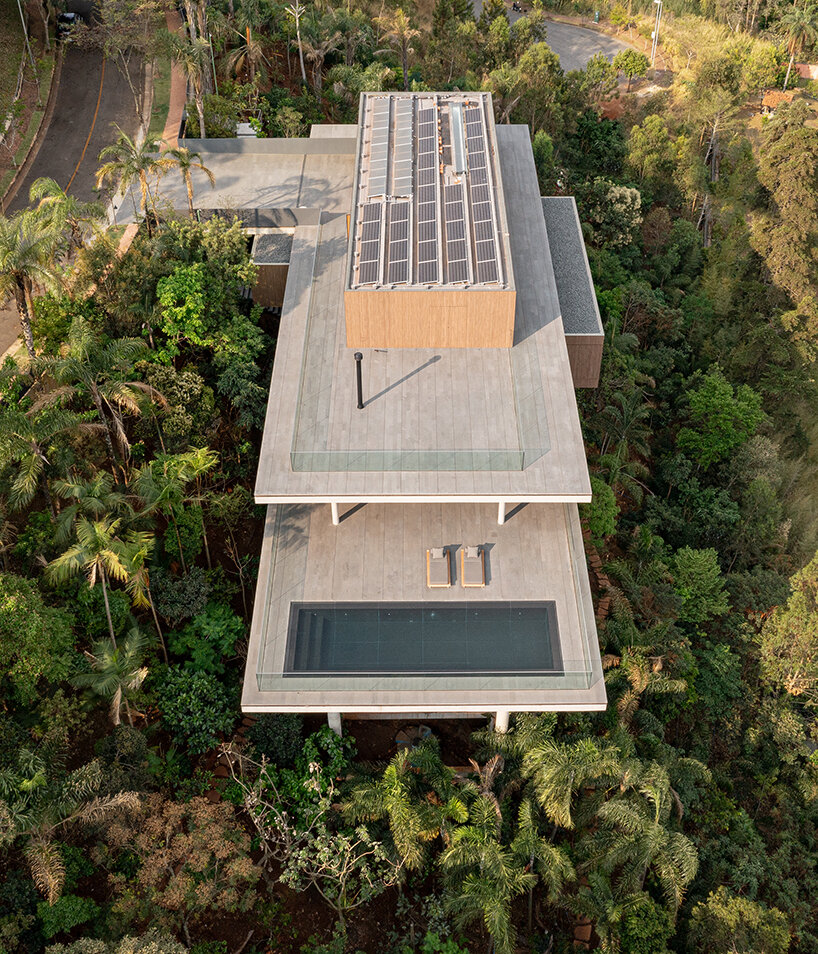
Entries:
<svg viewBox="0 0 818 954">
<path fill-rule="evenodd" d="M 495 713 L 503 728 L 514 711 L 605 708 L 575 504 L 518 504 L 503 524 L 491 503 L 337 516 L 268 507 L 245 711 L 335 726 L 342 713 Z"/>
</svg>

